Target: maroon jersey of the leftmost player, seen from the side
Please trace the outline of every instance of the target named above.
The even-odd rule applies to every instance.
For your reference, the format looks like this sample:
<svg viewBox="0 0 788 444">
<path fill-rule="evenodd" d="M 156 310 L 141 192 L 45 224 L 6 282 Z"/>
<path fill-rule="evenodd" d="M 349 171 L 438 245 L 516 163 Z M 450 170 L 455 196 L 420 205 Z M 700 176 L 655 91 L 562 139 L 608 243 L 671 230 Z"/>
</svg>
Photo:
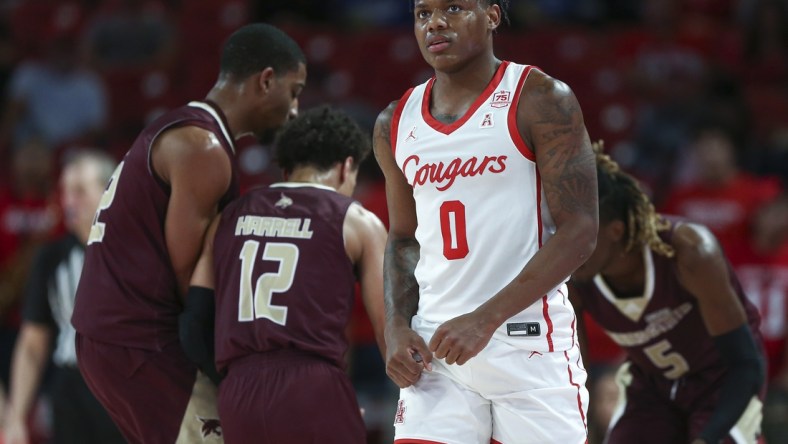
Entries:
<svg viewBox="0 0 788 444">
<path fill-rule="evenodd" d="M 170 190 L 153 171 L 151 146 L 182 126 L 214 133 L 230 157 L 232 182 L 220 208 L 239 194 L 235 148 L 218 107 L 191 102 L 146 127 L 112 175 L 91 228 L 72 317 L 87 337 L 149 350 L 178 340 L 182 304 L 164 240 Z"/>
</svg>

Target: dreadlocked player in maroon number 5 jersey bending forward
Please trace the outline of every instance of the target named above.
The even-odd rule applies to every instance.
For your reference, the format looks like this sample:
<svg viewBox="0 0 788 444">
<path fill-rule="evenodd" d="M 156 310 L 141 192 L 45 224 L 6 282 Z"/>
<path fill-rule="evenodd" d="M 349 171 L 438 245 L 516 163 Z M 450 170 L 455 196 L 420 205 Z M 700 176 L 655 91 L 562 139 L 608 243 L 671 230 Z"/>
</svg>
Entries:
<svg viewBox="0 0 788 444">
<path fill-rule="evenodd" d="M 757 442 L 756 309 L 708 228 L 657 214 L 601 144 L 595 152 L 599 237 L 570 294 L 627 355 L 607 442 Z"/>
</svg>

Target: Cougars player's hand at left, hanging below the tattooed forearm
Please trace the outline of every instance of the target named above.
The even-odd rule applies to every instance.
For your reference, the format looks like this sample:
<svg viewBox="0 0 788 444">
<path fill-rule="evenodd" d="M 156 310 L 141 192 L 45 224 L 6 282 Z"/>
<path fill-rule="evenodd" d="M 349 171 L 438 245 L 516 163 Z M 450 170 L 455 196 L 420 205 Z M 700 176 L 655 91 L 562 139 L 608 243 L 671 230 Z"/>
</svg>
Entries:
<svg viewBox="0 0 788 444">
<path fill-rule="evenodd" d="M 426 369 L 432 371 L 432 353 L 410 327 L 386 327 L 386 374 L 399 388 L 410 387 Z"/>
</svg>

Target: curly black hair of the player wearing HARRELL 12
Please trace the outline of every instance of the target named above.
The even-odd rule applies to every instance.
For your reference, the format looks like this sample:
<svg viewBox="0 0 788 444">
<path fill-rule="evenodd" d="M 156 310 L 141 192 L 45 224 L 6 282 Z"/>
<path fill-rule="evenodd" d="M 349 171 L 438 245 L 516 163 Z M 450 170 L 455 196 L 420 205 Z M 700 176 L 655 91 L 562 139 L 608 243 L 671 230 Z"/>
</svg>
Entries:
<svg viewBox="0 0 788 444">
<path fill-rule="evenodd" d="M 326 171 L 348 156 L 358 168 L 371 150 L 370 135 L 342 111 L 311 108 L 288 122 L 276 138 L 276 161 L 285 173 L 299 166 Z"/>
</svg>

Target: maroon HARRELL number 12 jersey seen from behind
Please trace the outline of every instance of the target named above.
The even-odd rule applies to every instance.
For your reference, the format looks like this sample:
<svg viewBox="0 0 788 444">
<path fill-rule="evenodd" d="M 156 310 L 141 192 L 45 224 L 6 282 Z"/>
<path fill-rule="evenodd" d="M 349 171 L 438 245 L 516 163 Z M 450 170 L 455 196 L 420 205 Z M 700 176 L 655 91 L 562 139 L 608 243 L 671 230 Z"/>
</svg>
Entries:
<svg viewBox="0 0 788 444">
<path fill-rule="evenodd" d="M 281 349 L 344 367 L 356 278 L 342 227 L 352 202 L 327 187 L 283 183 L 222 211 L 214 241 L 219 370 Z"/>
</svg>

